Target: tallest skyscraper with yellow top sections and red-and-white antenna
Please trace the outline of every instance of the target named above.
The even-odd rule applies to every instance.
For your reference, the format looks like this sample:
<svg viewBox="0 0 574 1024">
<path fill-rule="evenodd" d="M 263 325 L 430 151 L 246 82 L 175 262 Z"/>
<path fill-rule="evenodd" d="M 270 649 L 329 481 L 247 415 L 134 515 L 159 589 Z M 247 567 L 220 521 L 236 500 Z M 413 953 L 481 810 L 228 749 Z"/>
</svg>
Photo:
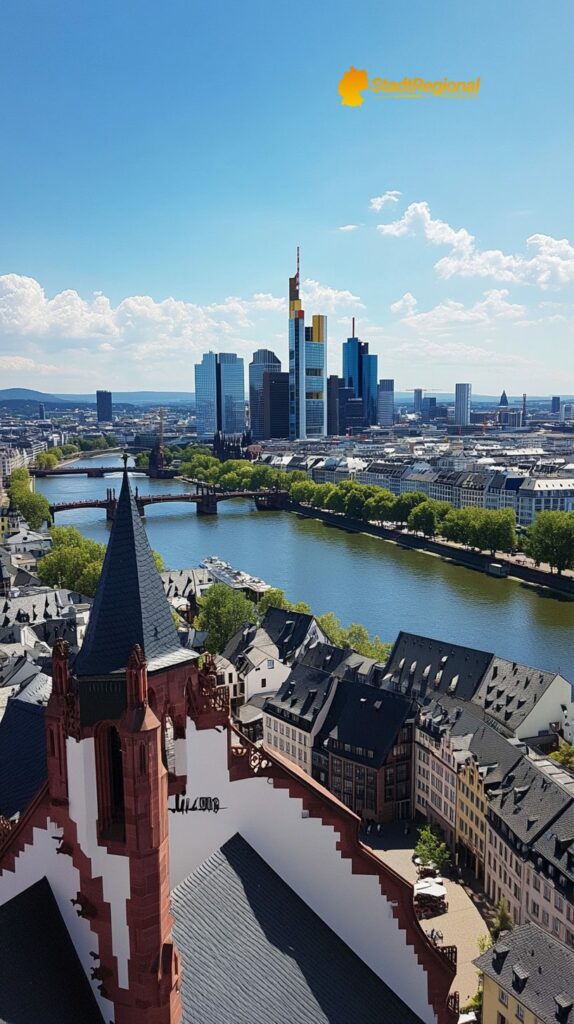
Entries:
<svg viewBox="0 0 574 1024">
<path fill-rule="evenodd" d="M 297 272 L 289 279 L 289 422 L 290 438 L 326 433 L 326 316 L 314 315 L 305 327 Z"/>
</svg>

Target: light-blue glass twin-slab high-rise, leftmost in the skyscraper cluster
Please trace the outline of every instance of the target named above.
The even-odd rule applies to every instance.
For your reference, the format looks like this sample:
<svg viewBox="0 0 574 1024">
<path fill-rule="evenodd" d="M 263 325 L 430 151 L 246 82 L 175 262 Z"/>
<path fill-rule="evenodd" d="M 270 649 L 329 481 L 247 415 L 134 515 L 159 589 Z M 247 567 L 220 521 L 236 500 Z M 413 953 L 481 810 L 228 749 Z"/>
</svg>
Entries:
<svg viewBox="0 0 574 1024">
<path fill-rule="evenodd" d="M 244 360 L 233 352 L 205 352 L 195 365 L 197 437 L 240 434 L 246 425 Z"/>
</svg>

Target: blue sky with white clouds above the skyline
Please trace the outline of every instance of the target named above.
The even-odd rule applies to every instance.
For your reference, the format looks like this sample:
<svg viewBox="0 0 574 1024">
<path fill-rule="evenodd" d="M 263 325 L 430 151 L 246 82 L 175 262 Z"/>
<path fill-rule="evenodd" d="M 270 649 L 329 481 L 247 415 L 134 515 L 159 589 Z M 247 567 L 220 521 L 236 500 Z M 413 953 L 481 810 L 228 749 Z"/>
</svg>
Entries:
<svg viewBox="0 0 574 1024">
<path fill-rule="evenodd" d="M 330 372 L 355 314 L 399 387 L 571 391 L 573 34 L 564 0 L 4 0 L 0 386 L 284 358 L 300 244 Z M 481 88 L 345 108 L 351 65 Z"/>
</svg>

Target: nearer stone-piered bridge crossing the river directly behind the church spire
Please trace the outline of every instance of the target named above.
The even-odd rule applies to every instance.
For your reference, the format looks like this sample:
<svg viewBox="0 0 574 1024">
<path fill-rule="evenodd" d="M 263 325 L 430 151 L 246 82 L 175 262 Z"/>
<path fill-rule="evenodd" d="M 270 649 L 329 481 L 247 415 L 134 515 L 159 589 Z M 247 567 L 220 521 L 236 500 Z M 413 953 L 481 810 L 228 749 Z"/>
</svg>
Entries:
<svg viewBox="0 0 574 1024">
<path fill-rule="evenodd" d="M 217 515 L 219 502 L 228 502 L 234 498 L 254 498 L 258 509 L 281 509 L 289 500 L 286 490 L 221 490 L 207 484 L 196 484 L 196 493 L 182 492 L 179 495 L 140 495 L 137 487 L 134 499 L 138 512 L 145 515 L 148 505 L 165 505 L 168 502 L 185 502 L 195 505 L 197 515 Z M 105 498 L 92 498 L 85 501 L 58 502 L 50 505 L 50 515 L 55 518 L 57 512 L 69 512 L 72 509 L 104 509 L 105 518 L 112 522 L 116 515 L 118 499 L 116 488 L 107 487 Z"/>
</svg>

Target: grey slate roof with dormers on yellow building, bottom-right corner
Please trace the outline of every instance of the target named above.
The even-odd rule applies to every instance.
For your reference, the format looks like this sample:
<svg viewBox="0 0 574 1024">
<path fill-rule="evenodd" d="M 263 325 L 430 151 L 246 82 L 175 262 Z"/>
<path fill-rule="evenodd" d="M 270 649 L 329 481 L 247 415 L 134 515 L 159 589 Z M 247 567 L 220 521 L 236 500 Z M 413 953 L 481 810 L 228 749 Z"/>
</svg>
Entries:
<svg viewBox="0 0 574 1024">
<path fill-rule="evenodd" d="M 500 950 L 498 956 L 496 950 Z M 538 925 L 530 922 L 506 932 L 475 964 L 501 988 L 512 992 L 542 1024 L 574 1021 L 574 1012 L 567 1009 L 568 1002 L 572 1005 L 574 1000 L 574 949 Z M 557 1014 L 556 996 L 563 997 L 562 1015 Z"/>
</svg>

